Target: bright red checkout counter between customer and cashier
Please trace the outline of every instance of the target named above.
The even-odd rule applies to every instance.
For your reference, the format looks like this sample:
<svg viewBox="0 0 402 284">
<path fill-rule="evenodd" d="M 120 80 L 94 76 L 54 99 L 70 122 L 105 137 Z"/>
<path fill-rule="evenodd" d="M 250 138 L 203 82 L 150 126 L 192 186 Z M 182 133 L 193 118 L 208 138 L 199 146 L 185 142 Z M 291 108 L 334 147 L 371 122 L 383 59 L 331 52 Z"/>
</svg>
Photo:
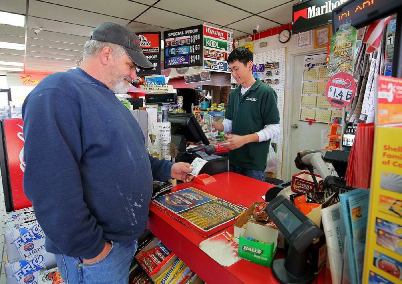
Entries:
<svg viewBox="0 0 402 284">
<path fill-rule="evenodd" d="M 249 207 L 256 201 L 264 201 L 262 196 L 265 195 L 268 189 L 274 187 L 274 185 L 232 172 L 214 175 L 214 178 L 217 182 L 209 185 L 200 185 L 191 182 L 179 184 L 172 191 L 191 186 L 233 204 Z M 212 236 L 203 237 L 198 235 L 152 204 L 149 211 L 148 229 L 205 282 L 209 284 L 278 283 L 274 279 L 270 268 L 245 259 L 241 259 L 229 267 L 220 265 L 208 254 L 199 249 L 199 243 Z M 233 224 L 234 222 L 230 223 L 224 230 L 233 233 Z"/>
</svg>

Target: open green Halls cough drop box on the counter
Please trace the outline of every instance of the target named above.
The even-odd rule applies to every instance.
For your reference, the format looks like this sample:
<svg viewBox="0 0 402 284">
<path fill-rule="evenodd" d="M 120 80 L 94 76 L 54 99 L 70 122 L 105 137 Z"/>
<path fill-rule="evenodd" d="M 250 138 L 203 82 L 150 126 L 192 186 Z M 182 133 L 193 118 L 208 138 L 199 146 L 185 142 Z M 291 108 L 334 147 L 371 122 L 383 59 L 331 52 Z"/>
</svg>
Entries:
<svg viewBox="0 0 402 284">
<path fill-rule="evenodd" d="M 260 242 L 248 240 L 253 238 Z M 278 230 L 248 223 L 246 235 L 239 236 L 239 257 L 270 267 L 276 252 Z"/>
</svg>

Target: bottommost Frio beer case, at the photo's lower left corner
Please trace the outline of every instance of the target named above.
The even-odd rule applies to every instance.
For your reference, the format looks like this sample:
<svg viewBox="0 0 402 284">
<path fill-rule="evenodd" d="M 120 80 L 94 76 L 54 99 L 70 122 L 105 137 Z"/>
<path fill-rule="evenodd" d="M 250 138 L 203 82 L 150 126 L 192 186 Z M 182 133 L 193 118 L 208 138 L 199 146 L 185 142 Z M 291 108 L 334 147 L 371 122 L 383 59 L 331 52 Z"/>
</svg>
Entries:
<svg viewBox="0 0 402 284">
<path fill-rule="evenodd" d="M 6 264 L 8 284 L 37 284 L 40 272 L 55 267 L 53 253 L 44 252 L 33 257 Z"/>
</svg>

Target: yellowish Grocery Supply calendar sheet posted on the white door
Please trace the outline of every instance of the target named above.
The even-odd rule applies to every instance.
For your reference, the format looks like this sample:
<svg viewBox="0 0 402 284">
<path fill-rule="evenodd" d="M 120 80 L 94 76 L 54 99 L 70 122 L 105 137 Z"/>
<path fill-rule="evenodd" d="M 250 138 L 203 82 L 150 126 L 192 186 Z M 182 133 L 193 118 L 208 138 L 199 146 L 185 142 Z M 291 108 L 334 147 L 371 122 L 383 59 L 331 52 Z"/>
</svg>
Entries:
<svg viewBox="0 0 402 284">
<path fill-rule="evenodd" d="M 326 54 L 304 57 L 300 121 L 315 119 L 315 122 L 330 123 L 334 117 L 342 117 L 342 110 L 333 107 L 326 96 L 327 83 L 331 79 L 326 58 Z"/>
</svg>

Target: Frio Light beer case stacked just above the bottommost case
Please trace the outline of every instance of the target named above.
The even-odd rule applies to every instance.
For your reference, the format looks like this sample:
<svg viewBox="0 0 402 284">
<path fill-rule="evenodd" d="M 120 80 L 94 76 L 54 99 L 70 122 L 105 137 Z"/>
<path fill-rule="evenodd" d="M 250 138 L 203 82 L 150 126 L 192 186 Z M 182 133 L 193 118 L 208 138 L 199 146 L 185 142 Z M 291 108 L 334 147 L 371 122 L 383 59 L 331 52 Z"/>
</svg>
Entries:
<svg viewBox="0 0 402 284">
<path fill-rule="evenodd" d="M 38 223 L 9 230 L 5 239 L 10 263 L 45 251 L 45 233 Z"/>
</svg>

